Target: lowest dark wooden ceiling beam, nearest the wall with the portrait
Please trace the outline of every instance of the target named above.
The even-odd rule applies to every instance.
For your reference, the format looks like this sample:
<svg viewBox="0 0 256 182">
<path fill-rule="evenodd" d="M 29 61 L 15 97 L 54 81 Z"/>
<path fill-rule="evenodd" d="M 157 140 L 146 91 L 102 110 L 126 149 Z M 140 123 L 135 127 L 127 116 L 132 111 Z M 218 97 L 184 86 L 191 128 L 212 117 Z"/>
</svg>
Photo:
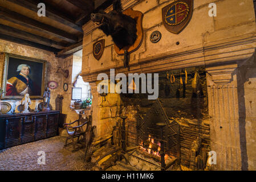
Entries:
<svg viewBox="0 0 256 182">
<path fill-rule="evenodd" d="M 7 40 L 9 42 L 14 42 L 14 43 L 22 44 L 22 45 L 25 45 L 25 46 L 30 46 L 30 47 L 35 47 L 35 48 L 43 49 L 43 50 L 54 52 L 54 53 L 60 51 L 60 49 L 44 46 L 42 44 L 30 42 L 29 40 L 25 40 L 25 39 L 14 38 L 13 36 L 1 34 L 1 33 L 0 33 L 0 39 Z"/>
</svg>

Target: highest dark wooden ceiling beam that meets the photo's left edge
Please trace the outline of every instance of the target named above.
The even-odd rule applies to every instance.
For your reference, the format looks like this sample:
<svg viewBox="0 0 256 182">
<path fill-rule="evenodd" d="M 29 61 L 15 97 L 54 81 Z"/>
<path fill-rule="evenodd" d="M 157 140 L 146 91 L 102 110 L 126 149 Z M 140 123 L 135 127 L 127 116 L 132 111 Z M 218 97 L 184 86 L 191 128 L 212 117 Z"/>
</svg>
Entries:
<svg viewBox="0 0 256 182">
<path fill-rule="evenodd" d="M 58 28 L 49 26 L 48 24 L 38 22 L 14 11 L 7 10 L 3 7 L 0 7 L 0 18 L 24 27 L 32 28 L 33 30 L 54 35 L 60 39 L 66 40 L 67 42 L 78 42 L 78 38 L 72 34 L 69 34 L 68 32 L 64 32 L 63 30 L 59 30 Z"/>
</svg>

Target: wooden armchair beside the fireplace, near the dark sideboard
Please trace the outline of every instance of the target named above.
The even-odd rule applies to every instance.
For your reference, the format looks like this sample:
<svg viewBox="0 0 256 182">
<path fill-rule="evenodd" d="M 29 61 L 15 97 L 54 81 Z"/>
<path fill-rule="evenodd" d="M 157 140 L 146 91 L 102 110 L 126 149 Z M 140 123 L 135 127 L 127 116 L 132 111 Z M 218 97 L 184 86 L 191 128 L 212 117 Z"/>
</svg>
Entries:
<svg viewBox="0 0 256 182">
<path fill-rule="evenodd" d="M 78 126 L 71 126 L 71 125 L 75 124 L 76 122 L 78 123 L 78 124 L 77 124 Z M 79 143 L 79 138 L 80 138 L 81 136 L 84 137 L 84 134 L 85 134 L 86 131 L 87 131 L 87 129 L 86 129 L 85 131 L 83 130 L 83 126 L 87 124 L 87 128 L 88 128 L 89 122 L 90 122 L 90 119 L 88 119 L 88 118 L 83 119 L 82 116 L 79 114 L 79 119 L 78 119 L 78 120 L 76 120 L 76 121 L 74 121 L 74 122 L 72 122 L 72 123 L 65 123 L 65 124 L 63 124 L 63 126 L 66 127 L 67 134 L 68 134 L 68 137 L 67 137 L 67 139 L 66 139 L 66 142 L 65 142 L 65 144 L 64 144 L 64 147 L 66 147 L 66 146 L 68 146 L 69 144 L 71 144 L 71 143 L 67 143 L 68 139 L 71 139 L 71 140 L 72 140 L 72 144 L 73 144 L 73 150 L 72 150 L 72 152 L 78 150 L 79 147 L 76 148 L 76 146 L 77 146 L 78 143 Z M 80 125 L 80 123 L 82 123 L 82 124 Z M 78 138 L 78 139 L 77 139 L 77 142 L 75 142 L 75 140 L 74 140 L 75 138 Z M 82 146 L 84 146 L 84 142 L 82 142 L 81 144 L 82 144 Z"/>
</svg>

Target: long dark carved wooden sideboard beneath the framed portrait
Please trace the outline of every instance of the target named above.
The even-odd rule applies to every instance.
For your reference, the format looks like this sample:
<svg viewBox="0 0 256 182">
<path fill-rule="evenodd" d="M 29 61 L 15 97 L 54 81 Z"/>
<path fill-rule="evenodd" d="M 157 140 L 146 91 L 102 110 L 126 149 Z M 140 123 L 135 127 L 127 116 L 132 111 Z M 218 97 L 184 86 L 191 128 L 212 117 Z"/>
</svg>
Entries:
<svg viewBox="0 0 256 182">
<path fill-rule="evenodd" d="M 58 135 L 59 111 L 0 114 L 0 150 Z"/>
</svg>

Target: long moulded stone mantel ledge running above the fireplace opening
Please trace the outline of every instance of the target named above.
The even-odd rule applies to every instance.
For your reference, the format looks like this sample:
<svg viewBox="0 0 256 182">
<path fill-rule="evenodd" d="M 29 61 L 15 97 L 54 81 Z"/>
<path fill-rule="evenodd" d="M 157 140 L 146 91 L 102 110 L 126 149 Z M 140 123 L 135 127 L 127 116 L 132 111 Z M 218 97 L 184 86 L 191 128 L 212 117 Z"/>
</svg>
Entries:
<svg viewBox="0 0 256 182">
<path fill-rule="evenodd" d="M 255 34 L 248 34 L 146 57 L 136 61 L 136 63 L 129 64 L 129 71 L 121 63 L 116 65 L 115 73 L 154 73 L 197 66 L 238 64 L 253 56 L 255 47 Z M 84 81 L 92 83 L 96 81 L 99 73 L 107 73 L 109 75 L 109 69 L 111 68 L 113 67 L 83 71 L 81 76 L 83 76 Z"/>
</svg>

